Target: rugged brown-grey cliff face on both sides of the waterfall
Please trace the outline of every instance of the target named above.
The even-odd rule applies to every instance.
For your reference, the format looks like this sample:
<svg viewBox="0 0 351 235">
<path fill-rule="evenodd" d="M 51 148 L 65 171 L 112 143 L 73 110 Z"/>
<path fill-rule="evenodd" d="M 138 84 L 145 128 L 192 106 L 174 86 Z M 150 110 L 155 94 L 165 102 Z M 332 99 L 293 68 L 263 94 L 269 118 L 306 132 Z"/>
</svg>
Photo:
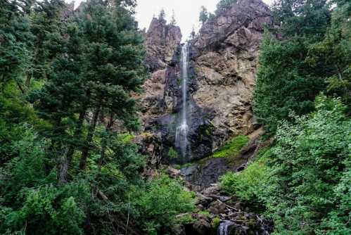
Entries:
<svg viewBox="0 0 351 235">
<path fill-rule="evenodd" d="M 165 162 L 186 163 L 211 155 L 231 136 L 257 129 L 252 99 L 258 53 L 264 25 L 272 23 L 269 8 L 261 0 L 238 0 L 205 23 L 190 42 L 190 154 L 185 159 L 169 159 L 170 148 L 177 150 L 174 137 L 181 110 L 180 30 L 153 19 L 146 34 L 146 63 L 153 75 L 146 81 L 142 98 L 145 131 L 153 136 L 152 148 L 146 147 L 153 151 L 151 155 L 160 155 Z"/>
</svg>

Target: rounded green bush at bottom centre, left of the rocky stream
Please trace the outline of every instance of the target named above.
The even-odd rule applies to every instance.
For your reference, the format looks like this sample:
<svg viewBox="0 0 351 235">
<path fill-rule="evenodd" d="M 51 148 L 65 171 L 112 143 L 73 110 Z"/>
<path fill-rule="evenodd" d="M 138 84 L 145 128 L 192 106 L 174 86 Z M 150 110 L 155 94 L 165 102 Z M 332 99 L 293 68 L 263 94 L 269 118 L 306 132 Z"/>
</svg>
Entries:
<svg viewBox="0 0 351 235">
<path fill-rule="evenodd" d="M 193 194 L 165 175 L 148 182 L 145 191 L 136 198 L 134 206 L 139 208 L 141 220 L 147 222 L 143 227 L 148 234 L 162 231 L 163 227 L 176 223 L 176 215 L 195 209 Z"/>
</svg>

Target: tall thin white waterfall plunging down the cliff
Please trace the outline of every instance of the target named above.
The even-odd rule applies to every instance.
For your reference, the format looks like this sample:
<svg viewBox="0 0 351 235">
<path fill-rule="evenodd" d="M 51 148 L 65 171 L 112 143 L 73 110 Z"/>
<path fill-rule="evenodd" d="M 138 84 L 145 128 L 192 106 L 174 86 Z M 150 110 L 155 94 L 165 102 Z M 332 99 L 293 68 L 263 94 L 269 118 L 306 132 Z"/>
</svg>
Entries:
<svg viewBox="0 0 351 235">
<path fill-rule="evenodd" d="M 189 44 L 185 43 L 181 48 L 181 116 L 176 129 L 175 145 L 181 149 L 182 157 L 186 156 L 189 148 L 188 122 L 186 120 L 187 82 L 189 70 Z"/>
</svg>

